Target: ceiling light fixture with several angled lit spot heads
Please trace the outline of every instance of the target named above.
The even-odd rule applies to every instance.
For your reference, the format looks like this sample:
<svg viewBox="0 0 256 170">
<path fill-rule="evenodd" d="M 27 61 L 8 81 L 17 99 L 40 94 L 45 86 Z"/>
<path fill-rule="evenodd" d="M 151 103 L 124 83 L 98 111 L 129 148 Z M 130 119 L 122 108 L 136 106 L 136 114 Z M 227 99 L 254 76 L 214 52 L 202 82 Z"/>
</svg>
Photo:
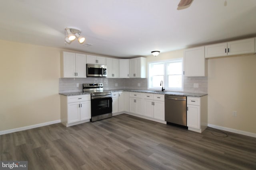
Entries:
<svg viewBox="0 0 256 170">
<path fill-rule="evenodd" d="M 70 44 L 74 39 L 78 39 L 80 44 L 84 43 L 85 37 L 81 36 L 81 30 L 74 27 L 65 28 L 65 42 Z"/>
</svg>

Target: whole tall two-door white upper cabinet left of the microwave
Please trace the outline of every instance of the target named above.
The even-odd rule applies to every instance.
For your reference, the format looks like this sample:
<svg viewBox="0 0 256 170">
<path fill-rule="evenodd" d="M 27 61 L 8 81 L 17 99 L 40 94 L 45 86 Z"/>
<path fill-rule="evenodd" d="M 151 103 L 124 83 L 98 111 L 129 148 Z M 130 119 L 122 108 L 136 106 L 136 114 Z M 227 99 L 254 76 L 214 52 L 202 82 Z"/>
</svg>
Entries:
<svg viewBox="0 0 256 170">
<path fill-rule="evenodd" d="M 86 78 L 86 55 L 63 52 L 60 68 L 63 78 Z"/>
</svg>

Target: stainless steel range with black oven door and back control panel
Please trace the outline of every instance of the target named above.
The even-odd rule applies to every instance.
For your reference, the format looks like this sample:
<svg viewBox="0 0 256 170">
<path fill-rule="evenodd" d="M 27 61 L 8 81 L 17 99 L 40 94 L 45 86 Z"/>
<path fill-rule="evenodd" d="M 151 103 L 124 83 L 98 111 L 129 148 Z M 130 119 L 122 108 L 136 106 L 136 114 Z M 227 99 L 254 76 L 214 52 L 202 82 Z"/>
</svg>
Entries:
<svg viewBox="0 0 256 170">
<path fill-rule="evenodd" d="M 112 94 L 103 90 L 102 83 L 83 84 L 84 92 L 91 92 L 90 121 L 97 121 L 112 117 Z"/>
</svg>

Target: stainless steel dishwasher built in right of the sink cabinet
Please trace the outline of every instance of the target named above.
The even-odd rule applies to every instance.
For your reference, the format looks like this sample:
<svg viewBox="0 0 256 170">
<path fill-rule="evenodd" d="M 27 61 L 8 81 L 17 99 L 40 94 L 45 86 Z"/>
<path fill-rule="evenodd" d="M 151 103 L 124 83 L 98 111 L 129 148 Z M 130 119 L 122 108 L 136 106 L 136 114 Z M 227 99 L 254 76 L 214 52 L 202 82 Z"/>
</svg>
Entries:
<svg viewBox="0 0 256 170">
<path fill-rule="evenodd" d="M 164 120 L 167 124 L 187 127 L 187 97 L 171 96 L 164 97 Z"/>
</svg>

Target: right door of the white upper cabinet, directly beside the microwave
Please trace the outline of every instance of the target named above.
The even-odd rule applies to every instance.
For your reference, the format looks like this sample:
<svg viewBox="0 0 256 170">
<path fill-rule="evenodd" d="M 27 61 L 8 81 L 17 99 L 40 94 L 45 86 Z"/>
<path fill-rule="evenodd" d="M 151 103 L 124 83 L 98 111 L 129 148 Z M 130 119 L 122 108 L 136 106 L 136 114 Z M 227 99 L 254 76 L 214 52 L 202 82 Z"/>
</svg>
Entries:
<svg viewBox="0 0 256 170">
<path fill-rule="evenodd" d="M 77 78 L 86 78 L 86 55 L 76 54 Z"/>
</svg>

